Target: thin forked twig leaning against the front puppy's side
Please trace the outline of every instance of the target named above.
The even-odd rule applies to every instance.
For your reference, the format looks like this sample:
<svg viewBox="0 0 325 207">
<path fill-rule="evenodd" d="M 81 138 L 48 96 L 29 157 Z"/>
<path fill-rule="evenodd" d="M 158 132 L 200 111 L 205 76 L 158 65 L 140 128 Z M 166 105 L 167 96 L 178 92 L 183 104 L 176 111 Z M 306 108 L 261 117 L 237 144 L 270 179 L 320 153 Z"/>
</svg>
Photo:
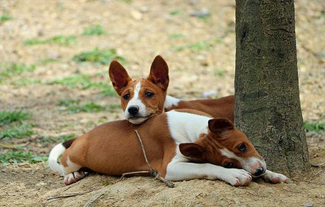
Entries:
<svg viewBox="0 0 325 207">
<path fill-rule="evenodd" d="M 133 175 L 133 176 L 134 175 L 151 175 L 152 177 L 155 177 L 159 181 L 163 182 L 169 188 L 174 188 L 175 184 L 173 182 L 171 182 L 171 181 L 169 181 L 169 180 L 161 177 L 160 174 L 159 174 L 159 172 L 157 172 L 156 170 L 154 170 L 154 168 L 151 167 L 151 165 L 149 163 L 149 160 L 147 158 L 147 153 L 145 151 L 145 146 L 142 143 L 142 139 L 140 137 L 140 134 L 139 134 L 138 130 L 134 130 L 134 132 L 136 132 L 136 135 L 137 135 L 137 137 L 138 137 L 138 139 L 140 141 L 140 145 L 141 145 L 141 148 L 142 148 L 143 156 L 145 157 L 145 160 L 146 160 L 147 166 L 149 167 L 149 170 L 148 171 L 137 171 L 137 172 L 126 172 L 126 173 L 123 173 L 122 174 L 122 177 L 120 178 L 120 180 L 122 180 L 123 177 L 130 176 L 130 175 Z"/>
</svg>

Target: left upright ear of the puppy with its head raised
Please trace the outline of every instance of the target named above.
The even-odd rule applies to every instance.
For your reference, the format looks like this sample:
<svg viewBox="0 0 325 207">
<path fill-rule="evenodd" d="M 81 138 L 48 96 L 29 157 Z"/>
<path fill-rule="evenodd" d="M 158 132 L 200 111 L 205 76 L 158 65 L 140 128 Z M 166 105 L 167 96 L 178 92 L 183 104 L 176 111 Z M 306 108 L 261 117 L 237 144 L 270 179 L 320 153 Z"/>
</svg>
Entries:
<svg viewBox="0 0 325 207">
<path fill-rule="evenodd" d="M 109 77 L 113 83 L 113 87 L 118 95 L 121 95 L 123 89 L 127 86 L 127 83 L 131 81 L 131 78 L 127 74 L 127 70 L 118 61 L 111 61 L 109 66 Z"/>
</svg>

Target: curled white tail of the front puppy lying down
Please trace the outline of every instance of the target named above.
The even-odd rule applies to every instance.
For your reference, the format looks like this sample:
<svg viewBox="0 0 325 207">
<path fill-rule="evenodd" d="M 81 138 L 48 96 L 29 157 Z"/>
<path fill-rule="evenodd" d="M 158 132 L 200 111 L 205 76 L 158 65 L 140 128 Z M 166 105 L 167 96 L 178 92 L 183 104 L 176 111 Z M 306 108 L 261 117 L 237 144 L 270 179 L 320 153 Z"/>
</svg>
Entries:
<svg viewBox="0 0 325 207">
<path fill-rule="evenodd" d="M 50 150 L 50 155 L 48 155 L 48 165 L 53 171 L 59 172 L 62 176 L 65 175 L 64 169 L 62 165 L 57 163 L 57 159 L 71 146 L 73 141 L 75 141 L 75 139 L 69 139 L 57 144 L 52 150 Z"/>
</svg>

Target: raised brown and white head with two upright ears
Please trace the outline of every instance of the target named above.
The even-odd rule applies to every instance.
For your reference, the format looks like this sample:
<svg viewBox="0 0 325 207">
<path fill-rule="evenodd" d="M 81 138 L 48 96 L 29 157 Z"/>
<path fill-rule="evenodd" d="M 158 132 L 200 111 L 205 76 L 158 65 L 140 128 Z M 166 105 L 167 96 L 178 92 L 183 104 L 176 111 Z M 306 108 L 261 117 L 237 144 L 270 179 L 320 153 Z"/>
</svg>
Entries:
<svg viewBox="0 0 325 207">
<path fill-rule="evenodd" d="M 111 62 L 109 77 L 121 97 L 124 117 L 132 124 L 163 112 L 169 76 L 167 63 L 160 55 L 152 62 L 146 79 L 132 80 L 118 61 Z"/>
</svg>

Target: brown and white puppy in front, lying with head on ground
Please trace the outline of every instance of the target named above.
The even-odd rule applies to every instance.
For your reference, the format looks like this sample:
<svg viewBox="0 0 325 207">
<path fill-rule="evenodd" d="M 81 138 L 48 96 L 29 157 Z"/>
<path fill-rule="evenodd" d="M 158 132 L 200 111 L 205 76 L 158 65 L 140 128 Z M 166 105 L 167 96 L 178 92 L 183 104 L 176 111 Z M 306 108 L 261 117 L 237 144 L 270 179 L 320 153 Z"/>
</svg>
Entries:
<svg viewBox="0 0 325 207">
<path fill-rule="evenodd" d="M 272 183 L 288 182 L 284 175 L 266 170 L 264 159 L 232 122 L 195 110 L 171 110 L 140 125 L 127 120 L 102 124 L 55 146 L 50 168 L 64 176 L 66 185 L 86 176 L 81 168 L 105 175 L 149 170 L 134 130 L 140 133 L 151 166 L 171 181 L 221 179 L 245 186 L 252 176 L 261 176 Z"/>
</svg>

